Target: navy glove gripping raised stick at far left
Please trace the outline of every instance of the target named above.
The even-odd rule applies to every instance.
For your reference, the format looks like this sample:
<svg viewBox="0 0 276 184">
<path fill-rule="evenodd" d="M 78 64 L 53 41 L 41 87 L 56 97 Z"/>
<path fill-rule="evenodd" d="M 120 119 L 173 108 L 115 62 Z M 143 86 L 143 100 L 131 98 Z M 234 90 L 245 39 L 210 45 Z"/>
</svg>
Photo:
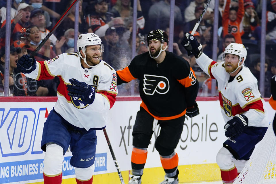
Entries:
<svg viewBox="0 0 276 184">
<path fill-rule="evenodd" d="M 18 60 L 16 66 L 20 72 L 29 74 L 37 68 L 37 61 L 34 58 L 30 58 L 30 55 L 23 55 Z"/>
</svg>

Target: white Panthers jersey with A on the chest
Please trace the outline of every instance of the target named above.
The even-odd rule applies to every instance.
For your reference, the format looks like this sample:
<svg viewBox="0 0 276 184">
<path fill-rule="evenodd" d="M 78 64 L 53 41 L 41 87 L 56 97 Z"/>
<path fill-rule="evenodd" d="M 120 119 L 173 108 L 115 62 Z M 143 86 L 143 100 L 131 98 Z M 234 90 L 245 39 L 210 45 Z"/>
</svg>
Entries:
<svg viewBox="0 0 276 184">
<path fill-rule="evenodd" d="M 36 80 L 60 78 L 54 109 L 72 125 L 86 130 L 106 126 L 106 111 L 113 106 L 118 91 L 116 71 L 103 60 L 96 66 L 83 68 L 78 53 L 63 53 L 48 61 L 37 61 L 37 68 L 26 76 Z M 70 78 L 95 87 L 93 104 L 68 95 L 66 85 L 71 84 Z"/>
</svg>

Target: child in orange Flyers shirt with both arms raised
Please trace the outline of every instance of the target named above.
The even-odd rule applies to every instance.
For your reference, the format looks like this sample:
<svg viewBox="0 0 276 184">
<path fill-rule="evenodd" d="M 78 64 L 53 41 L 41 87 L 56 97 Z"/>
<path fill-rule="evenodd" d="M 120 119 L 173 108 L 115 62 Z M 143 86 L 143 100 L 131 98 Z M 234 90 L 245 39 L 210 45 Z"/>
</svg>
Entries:
<svg viewBox="0 0 276 184">
<path fill-rule="evenodd" d="M 231 0 L 226 1 L 222 17 L 223 36 L 233 34 L 236 43 L 242 43 L 239 25 L 244 16 L 244 0 L 239 0 L 238 10 L 235 7 L 230 8 Z"/>
</svg>

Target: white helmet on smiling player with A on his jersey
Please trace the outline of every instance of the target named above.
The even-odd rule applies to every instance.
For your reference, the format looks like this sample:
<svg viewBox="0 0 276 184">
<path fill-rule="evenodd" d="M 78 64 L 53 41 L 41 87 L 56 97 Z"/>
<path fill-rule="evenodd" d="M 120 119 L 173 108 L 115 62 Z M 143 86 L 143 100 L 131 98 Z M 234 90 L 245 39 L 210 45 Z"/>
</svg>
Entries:
<svg viewBox="0 0 276 184">
<path fill-rule="evenodd" d="M 84 60 L 85 64 L 87 64 L 85 49 L 86 49 L 86 46 L 88 46 L 88 45 L 101 45 L 101 52 L 104 52 L 104 45 L 101 43 L 101 39 L 99 38 L 99 36 L 97 34 L 94 34 L 94 33 L 80 34 L 80 36 L 78 36 L 78 42 L 77 42 L 78 55 L 80 55 L 80 57 Z M 84 58 L 81 56 L 80 50 L 83 51 L 83 53 L 85 55 Z M 90 66 L 90 65 L 88 65 L 88 66 Z"/>
</svg>

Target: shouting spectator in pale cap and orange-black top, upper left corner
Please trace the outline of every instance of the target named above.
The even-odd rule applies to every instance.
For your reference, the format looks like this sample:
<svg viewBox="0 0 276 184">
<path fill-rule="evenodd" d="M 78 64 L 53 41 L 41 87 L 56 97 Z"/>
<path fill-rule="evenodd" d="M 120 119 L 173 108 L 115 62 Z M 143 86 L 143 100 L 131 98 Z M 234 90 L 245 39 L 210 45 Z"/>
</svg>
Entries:
<svg viewBox="0 0 276 184">
<path fill-rule="evenodd" d="M 19 39 L 19 34 L 22 28 L 26 28 L 30 25 L 30 11 L 32 6 L 27 3 L 20 3 L 17 11 L 18 14 L 11 20 L 11 43 Z M 6 37 L 6 20 L 3 22 L 0 29 L 0 47 L 5 46 Z"/>
</svg>

